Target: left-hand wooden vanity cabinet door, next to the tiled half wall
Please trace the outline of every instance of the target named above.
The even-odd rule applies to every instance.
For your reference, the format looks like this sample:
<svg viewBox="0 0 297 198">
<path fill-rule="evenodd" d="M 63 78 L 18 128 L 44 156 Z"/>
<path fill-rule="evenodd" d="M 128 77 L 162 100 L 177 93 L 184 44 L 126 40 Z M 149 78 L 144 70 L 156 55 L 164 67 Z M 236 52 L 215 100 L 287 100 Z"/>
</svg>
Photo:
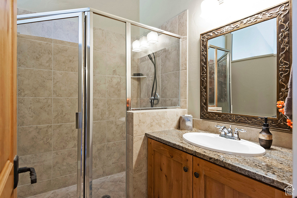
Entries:
<svg viewBox="0 0 297 198">
<path fill-rule="evenodd" d="M 149 198 L 192 198 L 192 155 L 148 139 Z"/>
</svg>

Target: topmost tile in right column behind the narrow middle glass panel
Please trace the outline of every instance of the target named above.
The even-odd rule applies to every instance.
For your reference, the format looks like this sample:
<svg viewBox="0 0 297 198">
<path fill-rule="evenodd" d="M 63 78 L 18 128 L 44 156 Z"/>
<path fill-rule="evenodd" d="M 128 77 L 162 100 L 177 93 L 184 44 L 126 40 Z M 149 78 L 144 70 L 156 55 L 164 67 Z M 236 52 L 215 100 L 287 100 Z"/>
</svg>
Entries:
<svg viewBox="0 0 297 198">
<path fill-rule="evenodd" d="M 106 51 L 113 54 L 126 55 L 125 34 L 106 31 Z"/>
</svg>

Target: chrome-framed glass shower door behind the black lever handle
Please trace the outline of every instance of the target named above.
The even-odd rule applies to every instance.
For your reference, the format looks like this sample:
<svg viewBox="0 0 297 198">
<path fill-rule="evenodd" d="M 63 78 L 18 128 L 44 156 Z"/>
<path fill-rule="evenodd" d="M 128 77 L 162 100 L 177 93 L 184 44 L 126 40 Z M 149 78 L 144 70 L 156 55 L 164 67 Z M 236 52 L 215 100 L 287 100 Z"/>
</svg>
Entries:
<svg viewBox="0 0 297 198">
<path fill-rule="evenodd" d="M 20 16 L 18 17 L 20 18 Z M 18 20 L 18 197 L 80 197 L 83 13 Z M 79 184 L 79 185 L 77 185 Z"/>
</svg>

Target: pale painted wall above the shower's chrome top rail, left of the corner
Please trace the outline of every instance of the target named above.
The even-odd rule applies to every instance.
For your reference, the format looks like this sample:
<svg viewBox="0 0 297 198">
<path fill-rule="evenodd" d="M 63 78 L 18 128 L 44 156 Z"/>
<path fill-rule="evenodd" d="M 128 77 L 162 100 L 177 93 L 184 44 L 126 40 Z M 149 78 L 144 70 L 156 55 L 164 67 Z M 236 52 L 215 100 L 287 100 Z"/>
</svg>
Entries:
<svg viewBox="0 0 297 198">
<path fill-rule="evenodd" d="M 32 12 L 91 7 L 139 22 L 139 0 L 18 0 L 17 4 Z"/>
</svg>

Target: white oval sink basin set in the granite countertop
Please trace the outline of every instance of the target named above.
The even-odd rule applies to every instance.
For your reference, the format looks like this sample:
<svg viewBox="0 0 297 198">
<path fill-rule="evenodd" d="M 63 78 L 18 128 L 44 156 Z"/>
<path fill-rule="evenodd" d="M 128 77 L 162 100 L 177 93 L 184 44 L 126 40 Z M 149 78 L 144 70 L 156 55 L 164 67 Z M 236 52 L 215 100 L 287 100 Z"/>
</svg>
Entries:
<svg viewBox="0 0 297 198">
<path fill-rule="evenodd" d="M 220 153 L 241 155 L 241 156 L 261 156 L 265 154 L 265 149 L 247 140 L 231 140 L 220 137 L 219 134 L 212 133 L 185 133 L 183 139 L 195 146 Z"/>
</svg>

